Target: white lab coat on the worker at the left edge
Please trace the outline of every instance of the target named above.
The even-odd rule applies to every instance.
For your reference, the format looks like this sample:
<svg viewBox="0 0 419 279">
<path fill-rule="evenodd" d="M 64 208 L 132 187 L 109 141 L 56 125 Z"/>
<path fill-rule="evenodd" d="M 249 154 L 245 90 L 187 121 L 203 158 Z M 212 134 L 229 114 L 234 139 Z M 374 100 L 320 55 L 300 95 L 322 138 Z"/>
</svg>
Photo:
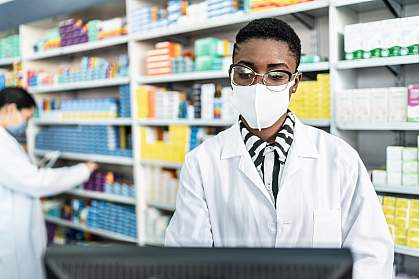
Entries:
<svg viewBox="0 0 419 279">
<path fill-rule="evenodd" d="M 38 169 L 0 127 L 0 278 L 42 278 L 46 231 L 39 197 L 58 194 L 89 178 L 85 164 Z"/>
</svg>

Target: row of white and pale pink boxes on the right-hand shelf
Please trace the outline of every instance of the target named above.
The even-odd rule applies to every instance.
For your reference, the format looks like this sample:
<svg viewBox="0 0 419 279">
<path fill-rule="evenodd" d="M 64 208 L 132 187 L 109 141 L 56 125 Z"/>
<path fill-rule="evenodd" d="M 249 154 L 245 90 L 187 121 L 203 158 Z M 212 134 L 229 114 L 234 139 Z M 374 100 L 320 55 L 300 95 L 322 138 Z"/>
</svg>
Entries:
<svg viewBox="0 0 419 279">
<path fill-rule="evenodd" d="M 412 90 L 411 111 L 415 120 L 417 96 Z M 409 93 L 410 94 L 410 93 Z M 350 89 L 337 93 L 338 122 L 394 123 L 408 120 L 408 90 L 406 87 Z"/>
</svg>

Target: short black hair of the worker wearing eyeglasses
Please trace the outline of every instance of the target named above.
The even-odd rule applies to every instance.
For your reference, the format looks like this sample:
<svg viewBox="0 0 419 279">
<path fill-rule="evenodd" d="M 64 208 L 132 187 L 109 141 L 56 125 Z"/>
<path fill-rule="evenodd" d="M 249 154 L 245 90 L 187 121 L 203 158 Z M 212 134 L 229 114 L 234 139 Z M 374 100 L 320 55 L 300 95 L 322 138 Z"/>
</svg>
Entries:
<svg viewBox="0 0 419 279">
<path fill-rule="evenodd" d="M 271 39 L 285 42 L 295 56 L 297 68 L 300 65 L 301 41 L 294 29 L 286 22 L 277 18 L 261 18 L 249 22 L 239 30 L 234 43 L 233 59 L 239 45 L 250 39 Z"/>
</svg>

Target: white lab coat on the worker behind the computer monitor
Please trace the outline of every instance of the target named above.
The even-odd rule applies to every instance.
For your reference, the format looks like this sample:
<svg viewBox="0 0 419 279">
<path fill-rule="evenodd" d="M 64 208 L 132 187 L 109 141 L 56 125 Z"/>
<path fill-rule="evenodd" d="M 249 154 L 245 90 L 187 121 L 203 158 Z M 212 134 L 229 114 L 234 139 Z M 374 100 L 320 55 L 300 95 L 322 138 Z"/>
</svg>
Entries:
<svg viewBox="0 0 419 279">
<path fill-rule="evenodd" d="M 298 119 L 273 204 L 236 124 L 191 151 L 167 246 L 350 247 L 353 276 L 391 278 L 394 245 L 357 152 Z"/>
</svg>

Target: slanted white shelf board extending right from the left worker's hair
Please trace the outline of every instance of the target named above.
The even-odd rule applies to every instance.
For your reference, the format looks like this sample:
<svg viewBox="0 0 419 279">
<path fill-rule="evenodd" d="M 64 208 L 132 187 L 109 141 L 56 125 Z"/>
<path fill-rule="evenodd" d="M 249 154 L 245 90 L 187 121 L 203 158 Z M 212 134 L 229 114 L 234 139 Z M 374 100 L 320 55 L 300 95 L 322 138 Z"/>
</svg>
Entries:
<svg viewBox="0 0 419 279">
<path fill-rule="evenodd" d="M 104 80 L 89 80 L 89 81 L 63 83 L 63 84 L 57 84 L 57 85 L 41 85 L 41 86 L 29 87 L 29 93 L 32 93 L 32 94 L 52 93 L 52 92 L 59 92 L 59 91 L 71 91 L 71 90 L 79 90 L 79 89 L 119 86 L 119 85 L 125 85 L 128 83 L 129 83 L 129 78 L 127 77 L 104 79 Z"/>
</svg>

